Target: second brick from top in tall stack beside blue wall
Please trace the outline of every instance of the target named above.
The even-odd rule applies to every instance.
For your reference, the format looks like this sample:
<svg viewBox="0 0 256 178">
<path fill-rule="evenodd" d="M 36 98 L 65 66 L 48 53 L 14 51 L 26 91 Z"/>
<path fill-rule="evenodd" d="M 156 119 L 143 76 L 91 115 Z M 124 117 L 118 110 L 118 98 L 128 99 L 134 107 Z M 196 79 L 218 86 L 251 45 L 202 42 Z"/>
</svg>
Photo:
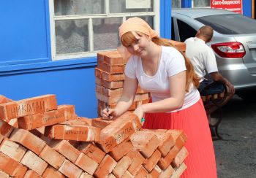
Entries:
<svg viewBox="0 0 256 178">
<path fill-rule="evenodd" d="M 110 74 L 122 74 L 124 73 L 125 65 L 124 64 L 110 65 L 105 62 L 98 62 L 97 68 L 101 69 L 102 71 L 106 71 Z"/>
</svg>

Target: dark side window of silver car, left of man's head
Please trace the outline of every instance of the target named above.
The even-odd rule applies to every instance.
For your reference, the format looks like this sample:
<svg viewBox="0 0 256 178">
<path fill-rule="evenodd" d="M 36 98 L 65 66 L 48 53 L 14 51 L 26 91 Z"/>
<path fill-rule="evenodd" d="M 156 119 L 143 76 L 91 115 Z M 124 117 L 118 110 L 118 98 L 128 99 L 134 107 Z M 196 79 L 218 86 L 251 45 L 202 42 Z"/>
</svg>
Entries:
<svg viewBox="0 0 256 178">
<path fill-rule="evenodd" d="M 177 19 L 177 24 L 181 42 L 184 42 L 186 39 L 194 37 L 195 34 L 197 34 L 197 31 L 189 26 L 187 23 L 184 23 L 183 21 Z"/>
</svg>

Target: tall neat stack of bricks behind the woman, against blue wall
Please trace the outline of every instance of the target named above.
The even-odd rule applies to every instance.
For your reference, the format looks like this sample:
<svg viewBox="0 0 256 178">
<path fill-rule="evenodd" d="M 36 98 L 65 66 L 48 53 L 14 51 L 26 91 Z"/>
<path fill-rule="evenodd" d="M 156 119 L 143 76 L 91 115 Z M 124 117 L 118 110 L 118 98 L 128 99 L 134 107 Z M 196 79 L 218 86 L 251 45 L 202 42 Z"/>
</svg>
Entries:
<svg viewBox="0 0 256 178">
<path fill-rule="evenodd" d="M 107 51 L 97 54 L 95 68 L 96 96 L 98 99 L 98 115 L 102 116 L 102 109 L 108 104 L 109 108 L 116 107 L 116 103 L 123 93 L 124 67 L 126 60 L 117 51 Z M 134 102 L 129 111 L 138 105 L 148 103 L 149 93 L 138 87 Z"/>
</svg>

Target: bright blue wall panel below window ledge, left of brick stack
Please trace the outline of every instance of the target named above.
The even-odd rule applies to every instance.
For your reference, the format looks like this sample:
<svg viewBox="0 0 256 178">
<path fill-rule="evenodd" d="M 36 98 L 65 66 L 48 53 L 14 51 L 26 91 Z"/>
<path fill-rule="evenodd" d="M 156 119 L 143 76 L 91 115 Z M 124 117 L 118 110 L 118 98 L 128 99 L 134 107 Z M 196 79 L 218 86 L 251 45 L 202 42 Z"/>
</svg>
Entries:
<svg viewBox="0 0 256 178">
<path fill-rule="evenodd" d="M 56 94 L 58 104 L 73 104 L 83 117 L 97 117 L 94 66 L 0 76 L 1 95 L 14 100 Z"/>
</svg>

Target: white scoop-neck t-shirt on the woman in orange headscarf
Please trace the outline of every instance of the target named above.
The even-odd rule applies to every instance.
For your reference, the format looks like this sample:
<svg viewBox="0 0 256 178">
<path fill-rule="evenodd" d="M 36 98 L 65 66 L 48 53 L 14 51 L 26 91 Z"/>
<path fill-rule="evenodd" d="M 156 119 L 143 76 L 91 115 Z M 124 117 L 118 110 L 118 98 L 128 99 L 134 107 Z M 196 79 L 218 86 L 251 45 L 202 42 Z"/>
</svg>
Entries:
<svg viewBox="0 0 256 178">
<path fill-rule="evenodd" d="M 181 53 L 173 47 L 162 46 L 159 68 L 154 76 L 148 76 L 145 74 L 143 71 L 141 58 L 137 55 L 132 55 L 132 57 L 129 58 L 124 73 L 129 78 L 137 78 L 140 88 L 149 91 L 151 93 L 152 102 L 154 102 L 165 98 L 170 98 L 170 85 L 168 77 L 185 70 L 186 66 L 183 55 L 181 55 Z M 172 112 L 190 107 L 199 99 L 199 92 L 194 85 L 191 85 L 189 92 L 185 94 L 183 107 Z"/>
</svg>

